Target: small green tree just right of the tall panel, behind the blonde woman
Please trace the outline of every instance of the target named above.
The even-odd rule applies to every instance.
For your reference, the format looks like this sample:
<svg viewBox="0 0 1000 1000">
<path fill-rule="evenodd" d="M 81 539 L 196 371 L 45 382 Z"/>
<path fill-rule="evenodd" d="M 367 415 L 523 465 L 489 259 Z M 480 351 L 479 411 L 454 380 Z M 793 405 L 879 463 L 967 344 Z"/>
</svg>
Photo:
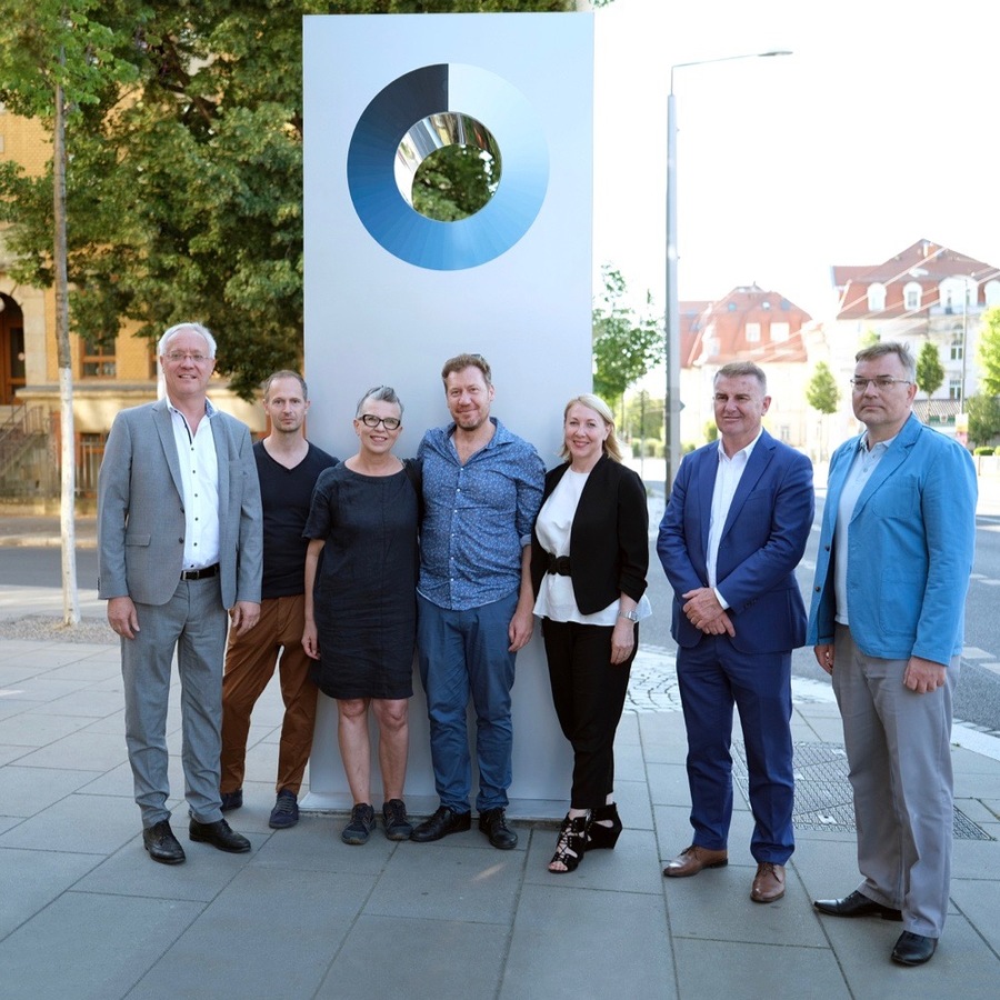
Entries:
<svg viewBox="0 0 1000 1000">
<path fill-rule="evenodd" d="M 628 288 L 621 273 L 601 268 L 604 289 L 593 308 L 593 391 L 613 407 L 628 387 L 663 356 L 660 321 L 639 317 L 624 303 Z M 647 292 L 647 309 L 652 297 Z"/>
</svg>

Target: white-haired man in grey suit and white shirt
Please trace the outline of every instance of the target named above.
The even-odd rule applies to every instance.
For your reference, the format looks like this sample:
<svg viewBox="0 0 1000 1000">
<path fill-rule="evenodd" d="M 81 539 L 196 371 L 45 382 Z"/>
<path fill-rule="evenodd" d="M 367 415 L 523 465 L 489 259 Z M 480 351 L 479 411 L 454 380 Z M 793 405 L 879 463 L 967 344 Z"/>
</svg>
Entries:
<svg viewBox="0 0 1000 1000">
<path fill-rule="evenodd" d="M 244 424 L 206 392 L 214 338 L 179 323 L 160 339 L 167 396 L 114 419 L 98 480 L 98 593 L 121 637 L 126 741 L 154 861 L 178 864 L 170 829 L 167 704 L 177 651 L 191 840 L 243 852 L 219 797 L 227 609 L 233 634 L 260 613 L 261 507 Z"/>
</svg>

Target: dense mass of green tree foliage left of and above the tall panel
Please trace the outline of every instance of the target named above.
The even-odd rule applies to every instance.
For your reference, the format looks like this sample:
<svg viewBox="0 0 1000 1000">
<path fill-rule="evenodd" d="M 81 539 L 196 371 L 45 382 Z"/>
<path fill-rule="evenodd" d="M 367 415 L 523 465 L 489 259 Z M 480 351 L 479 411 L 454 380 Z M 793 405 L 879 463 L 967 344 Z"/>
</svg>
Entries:
<svg viewBox="0 0 1000 1000">
<path fill-rule="evenodd" d="M 571 0 L 0 0 L 0 100 L 68 129 L 71 326 L 204 322 L 252 398 L 301 357 L 303 14 L 571 10 Z M 70 44 L 72 42 L 72 44 Z M 64 66 L 52 61 L 64 48 Z M 52 174 L 0 169 L 11 273 L 52 284 Z"/>
</svg>

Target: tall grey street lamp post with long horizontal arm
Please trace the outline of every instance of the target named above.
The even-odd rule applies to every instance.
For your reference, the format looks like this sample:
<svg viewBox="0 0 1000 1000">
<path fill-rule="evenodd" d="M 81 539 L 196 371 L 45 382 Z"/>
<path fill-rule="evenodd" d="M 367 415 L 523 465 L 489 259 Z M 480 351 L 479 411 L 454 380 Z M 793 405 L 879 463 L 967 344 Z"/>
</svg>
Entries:
<svg viewBox="0 0 1000 1000">
<path fill-rule="evenodd" d="M 731 62 L 733 59 L 767 59 L 771 56 L 791 56 L 791 52 L 787 49 L 772 49 L 767 52 L 744 52 L 740 56 L 720 56 L 718 59 L 677 62 L 670 67 L 670 93 L 667 96 L 667 310 L 663 326 L 667 364 L 667 399 L 663 404 L 664 500 L 670 499 L 670 489 L 677 478 L 681 459 L 680 303 L 677 288 L 677 102 L 673 97 L 673 71 L 691 66 Z"/>
</svg>

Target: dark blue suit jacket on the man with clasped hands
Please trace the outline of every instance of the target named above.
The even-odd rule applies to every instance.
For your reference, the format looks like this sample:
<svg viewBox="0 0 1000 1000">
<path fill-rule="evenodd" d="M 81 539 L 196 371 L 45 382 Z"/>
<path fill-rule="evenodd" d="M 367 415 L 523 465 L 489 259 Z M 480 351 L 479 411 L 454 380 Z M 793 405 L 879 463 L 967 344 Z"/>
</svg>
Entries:
<svg viewBox="0 0 1000 1000">
<path fill-rule="evenodd" d="M 660 523 L 657 552 L 673 588 L 679 646 L 704 636 L 681 610 L 682 593 L 708 587 L 708 537 L 719 469 L 717 443 L 684 457 Z M 792 650 L 806 640 L 794 570 L 812 528 L 812 463 L 763 431 L 740 478 L 719 543 L 716 587 L 729 602 L 741 652 Z"/>
</svg>

